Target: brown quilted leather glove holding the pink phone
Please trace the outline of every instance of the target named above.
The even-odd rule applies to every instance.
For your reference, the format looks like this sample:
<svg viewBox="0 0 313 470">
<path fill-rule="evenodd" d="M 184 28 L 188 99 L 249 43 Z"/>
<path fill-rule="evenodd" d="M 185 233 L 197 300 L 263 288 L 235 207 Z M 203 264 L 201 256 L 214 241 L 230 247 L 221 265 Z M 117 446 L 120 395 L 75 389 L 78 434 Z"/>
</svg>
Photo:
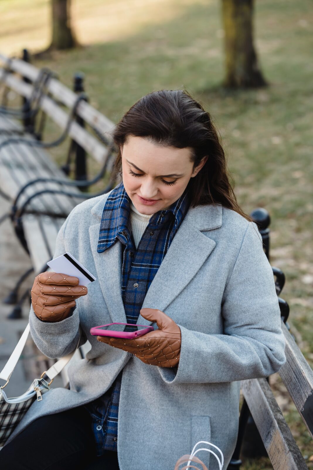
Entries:
<svg viewBox="0 0 313 470">
<path fill-rule="evenodd" d="M 159 329 L 134 339 L 97 336 L 98 341 L 132 352 L 145 364 L 177 366 L 182 338 L 179 326 L 166 313 L 155 308 L 142 308 L 140 314 L 146 320 L 156 321 Z"/>
</svg>

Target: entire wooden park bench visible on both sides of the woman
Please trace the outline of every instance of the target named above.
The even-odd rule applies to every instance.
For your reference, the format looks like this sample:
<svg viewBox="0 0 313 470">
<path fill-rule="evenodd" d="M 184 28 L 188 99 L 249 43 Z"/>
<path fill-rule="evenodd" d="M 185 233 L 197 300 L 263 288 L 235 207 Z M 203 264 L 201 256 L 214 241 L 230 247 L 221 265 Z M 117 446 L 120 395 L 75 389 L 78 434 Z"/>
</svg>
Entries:
<svg viewBox="0 0 313 470">
<path fill-rule="evenodd" d="M 114 151 L 107 131 L 112 129 L 113 124 L 84 99 L 77 101 L 77 94 L 63 86 L 47 71 L 40 72 L 25 61 L 9 60 L 3 55 L 0 55 L 0 60 L 3 63 L 0 81 L 2 77 L 2 82 L 8 88 L 26 99 L 26 106 L 21 115 L 22 124 L 6 113 L 1 115 L 0 108 L 0 187 L 4 193 L 2 196 L 12 199 L 11 219 L 15 232 L 31 256 L 35 273 L 38 273 L 46 269 L 46 262 L 53 256 L 56 235 L 64 218 L 76 204 L 89 196 L 87 193 L 81 193 L 77 186 L 80 183 L 81 187 L 90 186 L 97 178 L 100 180 L 106 172 L 111 172 Z M 70 110 L 69 113 L 66 114 L 61 106 L 66 106 Z M 31 110 L 33 112 L 30 112 Z M 63 132 L 66 131 L 65 134 L 75 143 L 78 153 L 81 152 L 84 156 L 86 152 L 102 165 L 95 179 L 88 182 L 84 180 L 84 174 L 84 179 L 79 179 L 81 174 L 77 177 L 77 172 L 75 181 L 66 179 L 64 172 L 53 163 L 44 146 L 25 142 L 24 139 L 35 142 L 38 138 L 32 119 L 34 116 L 38 119 L 39 110 L 52 118 Z M 84 128 L 84 123 L 90 126 L 90 132 Z M 1 147 L 2 142 L 8 140 L 10 142 Z M 36 182 L 32 182 L 34 180 Z M 108 190 L 109 187 L 103 192 Z M 269 218 L 264 211 L 255 212 L 252 217 L 259 225 L 268 257 Z M 284 276 L 274 267 L 273 273 L 279 296 Z M 290 334 L 287 323 L 288 305 L 281 298 L 279 305 L 287 356 L 287 362 L 279 371 L 279 375 L 310 435 L 313 436 L 313 371 Z M 84 357 L 87 350 L 88 346 L 81 350 L 76 360 Z M 66 376 L 64 381 L 66 383 Z M 307 469 L 305 459 L 267 379 L 245 380 L 241 389 L 244 402 L 240 413 L 238 441 L 228 470 L 240 468 L 240 450 L 250 414 L 275 470 Z"/>
</svg>

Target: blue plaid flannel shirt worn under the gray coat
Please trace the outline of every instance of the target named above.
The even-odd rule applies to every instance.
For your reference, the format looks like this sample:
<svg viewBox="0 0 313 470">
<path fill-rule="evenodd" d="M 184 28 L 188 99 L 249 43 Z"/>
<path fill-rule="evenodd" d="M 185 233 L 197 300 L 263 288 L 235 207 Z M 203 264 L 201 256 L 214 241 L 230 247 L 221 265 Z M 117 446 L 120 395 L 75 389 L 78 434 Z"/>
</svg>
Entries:
<svg viewBox="0 0 313 470">
<path fill-rule="evenodd" d="M 185 190 L 171 206 L 154 213 L 140 242 L 135 247 L 130 226 L 130 198 L 121 182 L 107 198 L 100 225 L 98 253 L 117 240 L 122 243 L 122 300 L 127 323 L 136 325 L 140 309 L 153 278 L 188 211 L 190 200 Z M 134 327 L 125 327 L 133 331 Z M 99 399 L 85 405 L 92 415 L 97 454 L 117 451 L 118 405 L 122 371 L 111 388 Z"/>
</svg>

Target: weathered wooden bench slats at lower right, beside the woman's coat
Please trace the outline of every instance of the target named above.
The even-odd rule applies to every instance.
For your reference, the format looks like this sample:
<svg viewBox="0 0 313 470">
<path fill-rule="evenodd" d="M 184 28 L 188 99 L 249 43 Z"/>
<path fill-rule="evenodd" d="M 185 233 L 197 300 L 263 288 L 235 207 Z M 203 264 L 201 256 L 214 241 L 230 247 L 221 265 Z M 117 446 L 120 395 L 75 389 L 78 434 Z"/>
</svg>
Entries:
<svg viewBox="0 0 313 470">
<path fill-rule="evenodd" d="M 286 362 L 278 372 L 313 435 L 313 370 L 282 322 Z M 305 460 L 266 379 L 242 382 L 242 392 L 275 470 L 307 470 Z"/>
</svg>

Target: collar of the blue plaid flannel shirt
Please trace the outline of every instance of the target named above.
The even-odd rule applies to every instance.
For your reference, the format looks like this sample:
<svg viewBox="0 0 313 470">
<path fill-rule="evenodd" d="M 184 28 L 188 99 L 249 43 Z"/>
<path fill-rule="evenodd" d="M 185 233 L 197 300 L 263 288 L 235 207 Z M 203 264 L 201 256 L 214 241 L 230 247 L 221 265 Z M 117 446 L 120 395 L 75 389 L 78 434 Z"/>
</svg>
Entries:
<svg viewBox="0 0 313 470">
<path fill-rule="evenodd" d="M 171 204 L 168 209 L 155 212 L 152 214 L 149 225 L 159 225 L 166 219 L 165 216 L 172 213 L 175 217 L 173 230 L 177 230 L 185 213 L 188 211 L 190 200 L 187 189 L 183 192 L 175 203 Z M 100 224 L 100 233 L 98 241 L 98 253 L 103 253 L 107 248 L 112 246 L 117 239 L 124 240 L 122 232 L 127 232 L 129 227 L 130 216 L 130 198 L 127 195 L 123 182 L 113 189 L 108 196 L 104 206 Z M 122 237 L 122 238 L 121 238 Z"/>
</svg>

